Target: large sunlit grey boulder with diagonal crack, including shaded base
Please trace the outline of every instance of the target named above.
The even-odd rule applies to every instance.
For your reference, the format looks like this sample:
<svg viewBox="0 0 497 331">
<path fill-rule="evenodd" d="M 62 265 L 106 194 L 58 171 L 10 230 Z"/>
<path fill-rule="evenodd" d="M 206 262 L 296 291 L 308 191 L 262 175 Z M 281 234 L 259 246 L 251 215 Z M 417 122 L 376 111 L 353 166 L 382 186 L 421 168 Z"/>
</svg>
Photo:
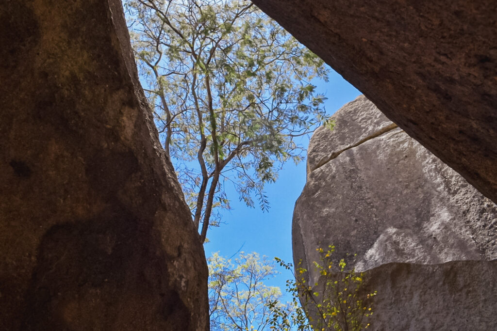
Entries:
<svg viewBox="0 0 497 331">
<path fill-rule="evenodd" d="M 314 283 L 316 248 L 356 253 L 349 266 L 367 271 L 366 287 L 380 293 L 374 329 L 492 330 L 496 204 L 364 96 L 333 119 L 334 130 L 319 128 L 309 145 L 295 263 L 303 260 Z"/>
</svg>

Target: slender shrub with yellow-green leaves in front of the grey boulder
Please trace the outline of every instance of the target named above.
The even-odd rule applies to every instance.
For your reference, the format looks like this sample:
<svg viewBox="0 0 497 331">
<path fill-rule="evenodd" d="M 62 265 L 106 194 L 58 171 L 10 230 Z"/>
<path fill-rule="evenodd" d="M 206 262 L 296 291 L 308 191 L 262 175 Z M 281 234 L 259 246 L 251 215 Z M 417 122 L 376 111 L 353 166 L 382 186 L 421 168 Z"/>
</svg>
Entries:
<svg viewBox="0 0 497 331">
<path fill-rule="evenodd" d="M 296 280 L 287 282 L 287 291 L 292 294 L 293 302 L 300 299 L 302 306 L 293 314 L 270 306 L 273 330 L 290 330 L 288 327 L 292 324 L 297 325 L 299 331 L 356 331 L 370 327 L 365 319 L 373 315 L 373 297 L 377 291 L 361 295 L 364 274 L 356 273 L 354 269 L 347 271 L 344 259 L 333 263 L 331 255 L 334 249 L 331 245 L 327 251 L 317 249 L 322 258 L 321 263 L 313 263 L 315 271 L 320 274 L 314 284 L 306 280 L 307 269 L 301 266 L 295 269 Z M 291 264 L 275 259 L 286 269 L 292 269 Z"/>
</svg>

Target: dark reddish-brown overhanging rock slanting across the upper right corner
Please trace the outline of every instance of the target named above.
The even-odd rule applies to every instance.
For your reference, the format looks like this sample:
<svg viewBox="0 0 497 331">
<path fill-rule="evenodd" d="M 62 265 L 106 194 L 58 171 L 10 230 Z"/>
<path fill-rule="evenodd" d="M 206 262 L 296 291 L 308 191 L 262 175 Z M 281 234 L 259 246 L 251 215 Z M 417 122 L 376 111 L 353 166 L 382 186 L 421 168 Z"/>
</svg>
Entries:
<svg viewBox="0 0 497 331">
<path fill-rule="evenodd" d="M 497 2 L 254 0 L 497 202 Z"/>
</svg>

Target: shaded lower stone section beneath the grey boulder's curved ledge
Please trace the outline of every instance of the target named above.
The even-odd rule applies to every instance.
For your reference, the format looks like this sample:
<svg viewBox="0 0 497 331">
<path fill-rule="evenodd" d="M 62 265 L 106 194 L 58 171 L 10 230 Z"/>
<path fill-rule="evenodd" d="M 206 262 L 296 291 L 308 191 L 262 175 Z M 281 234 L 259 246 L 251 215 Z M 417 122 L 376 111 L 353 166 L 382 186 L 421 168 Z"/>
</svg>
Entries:
<svg viewBox="0 0 497 331">
<path fill-rule="evenodd" d="M 390 263 L 366 272 L 376 289 L 368 330 L 497 330 L 497 261 Z"/>
</svg>

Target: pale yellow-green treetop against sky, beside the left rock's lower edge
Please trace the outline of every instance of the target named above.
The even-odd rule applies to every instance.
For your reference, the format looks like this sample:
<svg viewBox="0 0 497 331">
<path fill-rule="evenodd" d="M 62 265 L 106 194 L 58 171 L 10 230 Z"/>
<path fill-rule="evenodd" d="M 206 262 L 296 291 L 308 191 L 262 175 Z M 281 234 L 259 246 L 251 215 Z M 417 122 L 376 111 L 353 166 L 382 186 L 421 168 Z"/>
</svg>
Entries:
<svg viewBox="0 0 497 331">
<path fill-rule="evenodd" d="M 233 264 L 214 253 L 207 262 L 211 330 L 267 330 L 269 307 L 290 311 L 280 288 L 264 284 L 278 273 L 265 257 L 241 252 Z"/>
</svg>

